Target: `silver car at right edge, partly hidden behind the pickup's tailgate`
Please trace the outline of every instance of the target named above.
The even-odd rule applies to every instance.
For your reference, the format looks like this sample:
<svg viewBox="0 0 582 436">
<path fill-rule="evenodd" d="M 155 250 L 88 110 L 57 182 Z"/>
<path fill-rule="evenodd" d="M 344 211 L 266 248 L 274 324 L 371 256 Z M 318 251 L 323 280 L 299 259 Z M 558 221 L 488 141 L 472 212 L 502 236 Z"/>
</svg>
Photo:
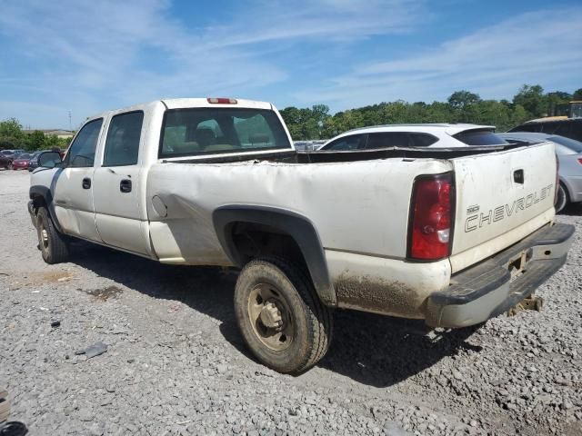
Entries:
<svg viewBox="0 0 582 436">
<path fill-rule="evenodd" d="M 568 203 L 582 202 L 582 143 L 557 134 L 535 134 L 515 132 L 499 134 L 509 142 L 537 144 L 551 141 L 556 144 L 559 159 L 559 185 L 556 211 L 560 212 Z"/>
</svg>

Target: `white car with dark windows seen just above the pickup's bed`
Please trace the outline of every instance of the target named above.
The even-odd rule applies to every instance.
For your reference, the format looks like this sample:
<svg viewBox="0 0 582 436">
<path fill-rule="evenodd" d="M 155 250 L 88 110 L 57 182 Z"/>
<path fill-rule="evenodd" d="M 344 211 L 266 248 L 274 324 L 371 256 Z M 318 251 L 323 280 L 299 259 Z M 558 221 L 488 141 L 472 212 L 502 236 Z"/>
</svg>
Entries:
<svg viewBox="0 0 582 436">
<path fill-rule="evenodd" d="M 507 144 L 495 127 L 477 124 L 389 124 L 338 134 L 319 150 L 370 150 L 386 147 L 467 147 Z"/>
</svg>

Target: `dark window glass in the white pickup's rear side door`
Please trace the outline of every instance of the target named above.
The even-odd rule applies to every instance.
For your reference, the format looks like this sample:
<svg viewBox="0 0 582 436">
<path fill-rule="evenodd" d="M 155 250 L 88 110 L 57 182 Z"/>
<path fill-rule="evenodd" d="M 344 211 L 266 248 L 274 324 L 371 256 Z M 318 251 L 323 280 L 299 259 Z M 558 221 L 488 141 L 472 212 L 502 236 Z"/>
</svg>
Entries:
<svg viewBox="0 0 582 436">
<path fill-rule="evenodd" d="M 135 165 L 139 154 L 144 113 L 118 114 L 111 119 L 105 140 L 103 166 Z"/>
</svg>

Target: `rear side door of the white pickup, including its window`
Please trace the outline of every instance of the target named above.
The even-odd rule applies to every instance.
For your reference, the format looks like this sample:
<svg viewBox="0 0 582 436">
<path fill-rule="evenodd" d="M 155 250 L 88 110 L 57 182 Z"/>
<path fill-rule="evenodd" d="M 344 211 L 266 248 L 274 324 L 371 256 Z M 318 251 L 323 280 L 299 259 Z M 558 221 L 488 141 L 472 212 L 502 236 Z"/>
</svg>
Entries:
<svg viewBox="0 0 582 436">
<path fill-rule="evenodd" d="M 115 114 L 109 122 L 103 163 L 95 169 L 95 223 L 104 243 L 148 254 L 141 217 L 140 148 L 144 112 Z"/>
</svg>

